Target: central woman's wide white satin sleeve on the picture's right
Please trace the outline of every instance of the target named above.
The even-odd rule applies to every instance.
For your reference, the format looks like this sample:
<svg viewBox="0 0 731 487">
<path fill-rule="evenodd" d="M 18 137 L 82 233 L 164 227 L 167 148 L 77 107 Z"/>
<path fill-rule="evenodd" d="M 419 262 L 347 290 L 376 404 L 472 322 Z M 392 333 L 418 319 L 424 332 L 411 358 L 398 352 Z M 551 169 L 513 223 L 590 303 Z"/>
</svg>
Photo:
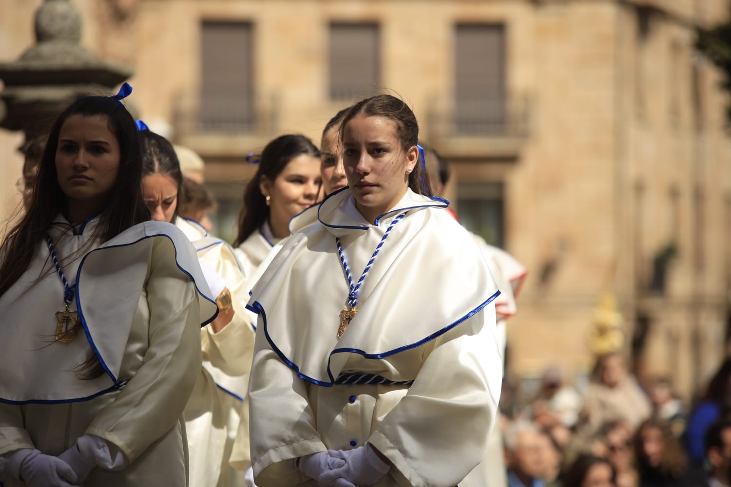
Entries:
<svg viewBox="0 0 731 487">
<path fill-rule="evenodd" d="M 485 458 L 502 377 L 494 304 L 469 319 L 485 325 L 433 340 L 409 392 L 368 439 L 401 486 L 453 487 Z"/>
</svg>

